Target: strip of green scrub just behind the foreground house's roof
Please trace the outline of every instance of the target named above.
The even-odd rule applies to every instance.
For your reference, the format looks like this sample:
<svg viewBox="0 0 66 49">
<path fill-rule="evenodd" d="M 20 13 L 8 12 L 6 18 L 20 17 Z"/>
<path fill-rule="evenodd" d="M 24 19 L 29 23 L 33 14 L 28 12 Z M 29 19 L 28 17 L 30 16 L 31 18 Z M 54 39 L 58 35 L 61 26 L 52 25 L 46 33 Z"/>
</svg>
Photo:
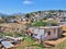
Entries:
<svg viewBox="0 0 66 49">
<path fill-rule="evenodd" d="M 34 22 L 33 26 L 57 26 L 56 22 Z"/>
</svg>

